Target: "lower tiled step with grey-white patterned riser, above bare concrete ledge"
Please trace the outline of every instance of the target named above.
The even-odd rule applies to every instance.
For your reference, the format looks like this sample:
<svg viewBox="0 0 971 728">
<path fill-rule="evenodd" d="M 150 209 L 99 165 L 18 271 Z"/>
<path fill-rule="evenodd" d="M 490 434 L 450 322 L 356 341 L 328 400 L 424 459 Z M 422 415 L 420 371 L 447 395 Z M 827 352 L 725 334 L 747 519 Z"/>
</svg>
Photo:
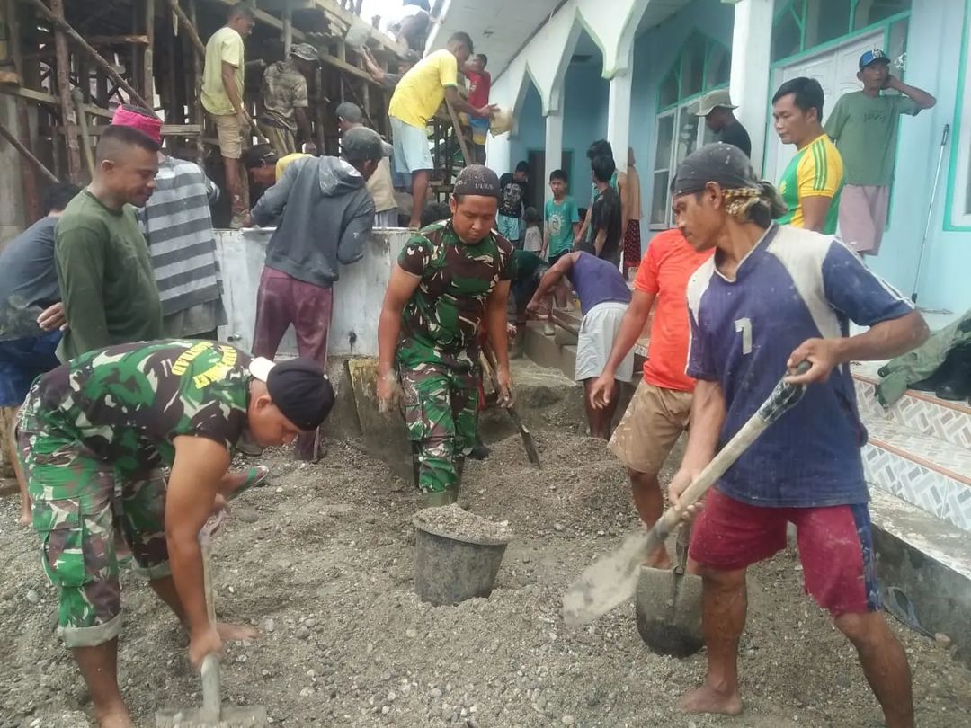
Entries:
<svg viewBox="0 0 971 728">
<path fill-rule="evenodd" d="M 971 450 L 887 419 L 866 418 L 867 481 L 948 523 L 971 531 Z M 882 447 L 882 446 L 887 447 Z"/>
</svg>

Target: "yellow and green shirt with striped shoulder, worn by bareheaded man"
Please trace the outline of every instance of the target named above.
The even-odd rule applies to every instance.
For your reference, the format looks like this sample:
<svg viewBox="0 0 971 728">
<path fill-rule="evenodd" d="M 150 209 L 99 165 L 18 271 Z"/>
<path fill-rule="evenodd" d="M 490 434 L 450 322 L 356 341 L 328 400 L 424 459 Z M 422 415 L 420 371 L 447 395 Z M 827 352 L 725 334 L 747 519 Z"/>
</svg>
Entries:
<svg viewBox="0 0 971 728">
<path fill-rule="evenodd" d="M 788 212 L 779 218 L 780 224 L 804 227 L 802 200 L 804 197 L 831 197 L 832 204 L 826 213 L 822 232 L 836 232 L 839 218 L 840 193 L 843 191 L 843 158 L 829 137 L 820 134 L 792 157 L 783 179 L 779 182 L 779 194 Z"/>
</svg>

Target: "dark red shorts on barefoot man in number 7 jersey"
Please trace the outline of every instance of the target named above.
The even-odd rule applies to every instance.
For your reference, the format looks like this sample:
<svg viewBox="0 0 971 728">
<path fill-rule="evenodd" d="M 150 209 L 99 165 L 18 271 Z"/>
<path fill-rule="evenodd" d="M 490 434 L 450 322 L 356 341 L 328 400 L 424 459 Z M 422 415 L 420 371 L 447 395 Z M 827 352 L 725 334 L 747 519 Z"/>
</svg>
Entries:
<svg viewBox="0 0 971 728">
<path fill-rule="evenodd" d="M 834 616 L 880 609 L 866 504 L 821 508 L 750 506 L 712 490 L 691 533 L 690 556 L 721 571 L 745 569 L 786 547 L 796 527 L 806 593 Z"/>
</svg>

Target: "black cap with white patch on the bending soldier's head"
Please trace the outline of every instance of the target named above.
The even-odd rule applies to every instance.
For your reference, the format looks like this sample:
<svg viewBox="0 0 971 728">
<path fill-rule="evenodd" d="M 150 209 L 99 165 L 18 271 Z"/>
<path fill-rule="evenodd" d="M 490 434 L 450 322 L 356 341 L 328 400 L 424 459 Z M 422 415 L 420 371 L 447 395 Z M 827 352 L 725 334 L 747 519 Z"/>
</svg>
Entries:
<svg viewBox="0 0 971 728">
<path fill-rule="evenodd" d="M 313 359 L 275 363 L 258 356 L 250 362 L 250 374 L 266 383 L 273 404 L 305 432 L 316 430 L 334 406 L 334 387 Z"/>
</svg>

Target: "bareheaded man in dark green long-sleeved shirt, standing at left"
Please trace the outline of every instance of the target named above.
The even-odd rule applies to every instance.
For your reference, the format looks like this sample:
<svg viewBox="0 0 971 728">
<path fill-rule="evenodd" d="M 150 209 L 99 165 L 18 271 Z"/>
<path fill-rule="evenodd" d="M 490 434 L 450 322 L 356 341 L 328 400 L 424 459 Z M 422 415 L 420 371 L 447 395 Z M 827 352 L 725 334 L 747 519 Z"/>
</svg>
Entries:
<svg viewBox="0 0 971 728">
<path fill-rule="evenodd" d="M 68 330 L 62 359 L 162 335 L 149 247 L 132 206 L 155 188 L 158 145 L 130 126 L 105 129 L 94 179 L 57 221 L 54 263 Z"/>
</svg>

